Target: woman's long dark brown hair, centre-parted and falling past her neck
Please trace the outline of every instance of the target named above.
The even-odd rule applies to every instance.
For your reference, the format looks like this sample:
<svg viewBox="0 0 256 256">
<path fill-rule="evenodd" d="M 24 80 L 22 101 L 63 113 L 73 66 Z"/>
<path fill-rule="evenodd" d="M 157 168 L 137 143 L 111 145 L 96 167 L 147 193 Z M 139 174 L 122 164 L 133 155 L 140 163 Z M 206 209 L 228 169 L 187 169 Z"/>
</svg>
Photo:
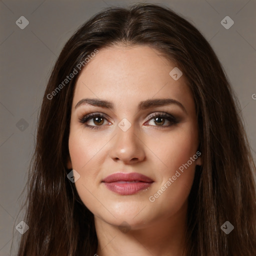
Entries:
<svg viewBox="0 0 256 256">
<path fill-rule="evenodd" d="M 202 34 L 169 8 L 146 3 L 95 14 L 59 54 L 41 105 L 23 205 L 29 229 L 21 236 L 18 256 L 96 252 L 93 214 L 66 177 L 71 102 L 77 65 L 95 49 L 116 44 L 149 45 L 174 61 L 192 91 L 202 165 L 188 198 L 187 255 L 255 256 L 256 171 L 236 96 Z M 74 68 L 78 73 L 63 83 Z M 221 230 L 227 220 L 234 226 L 229 234 Z"/>
</svg>

